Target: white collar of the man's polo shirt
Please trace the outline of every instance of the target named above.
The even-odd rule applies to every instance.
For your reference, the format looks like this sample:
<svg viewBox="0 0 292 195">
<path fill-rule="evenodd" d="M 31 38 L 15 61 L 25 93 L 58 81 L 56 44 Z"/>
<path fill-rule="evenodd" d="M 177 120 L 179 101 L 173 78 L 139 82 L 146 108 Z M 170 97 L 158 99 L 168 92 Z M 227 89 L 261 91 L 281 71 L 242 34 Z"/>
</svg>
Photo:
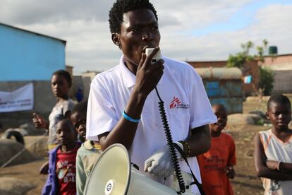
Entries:
<svg viewBox="0 0 292 195">
<path fill-rule="evenodd" d="M 164 66 L 165 65 L 166 64 L 164 63 Z M 125 86 L 127 88 L 133 87 L 133 85 L 135 85 L 136 76 L 126 66 L 125 57 L 124 56 L 122 56 L 121 59 L 120 59 L 120 66 L 121 66 L 121 73 L 122 73 L 122 76 L 123 76 L 123 83 L 125 84 Z M 162 78 L 160 78 L 160 80 L 159 80 L 157 85 L 162 85 L 163 78 L 164 78 L 164 75 L 162 75 Z"/>
</svg>

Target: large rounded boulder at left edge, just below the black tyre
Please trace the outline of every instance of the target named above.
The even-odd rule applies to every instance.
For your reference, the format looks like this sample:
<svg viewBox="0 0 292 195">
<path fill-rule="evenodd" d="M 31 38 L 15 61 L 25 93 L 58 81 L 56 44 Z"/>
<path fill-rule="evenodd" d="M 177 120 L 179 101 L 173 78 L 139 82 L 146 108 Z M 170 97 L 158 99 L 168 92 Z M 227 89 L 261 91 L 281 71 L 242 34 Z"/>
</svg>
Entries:
<svg viewBox="0 0 292 195">
<path fill-rule="evenodd" d="M 17 157 L 6 166 L 19 165 L 36 160 L 35 156 L 25 149 L 21 143 L 9 139 L 0 139 L 0 166 L 11 160 L 15 155 Z"/>
</svg>

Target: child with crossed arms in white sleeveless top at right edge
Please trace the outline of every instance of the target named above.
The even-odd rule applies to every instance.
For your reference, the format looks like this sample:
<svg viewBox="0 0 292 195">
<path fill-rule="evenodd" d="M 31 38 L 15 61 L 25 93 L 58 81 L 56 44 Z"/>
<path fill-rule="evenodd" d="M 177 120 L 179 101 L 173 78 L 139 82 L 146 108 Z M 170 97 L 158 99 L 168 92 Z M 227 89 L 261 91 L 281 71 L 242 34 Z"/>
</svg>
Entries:
<svg viewBox="0 0 292 195">
<path fill-rule="evenodd" d="M 272 129 L 255 135 L 255 170 L 262 177 L 264 194 L 292 194 L 291 102 L 285 95 L 272 95 L 267 102 Z"/>
</svg>

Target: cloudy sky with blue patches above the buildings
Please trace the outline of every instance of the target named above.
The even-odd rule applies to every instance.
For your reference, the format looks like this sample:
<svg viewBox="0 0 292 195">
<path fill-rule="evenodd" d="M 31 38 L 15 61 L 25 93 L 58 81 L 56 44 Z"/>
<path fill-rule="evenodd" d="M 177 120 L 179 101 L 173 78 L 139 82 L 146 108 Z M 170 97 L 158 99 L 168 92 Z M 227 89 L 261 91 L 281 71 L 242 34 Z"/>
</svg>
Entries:
<svg viewBox="0 0 292 195">
<path fill-rule="evenodd" d="M 0 0 L 0 23 L 66 40 L 73 73 L 105 71 L 121 50 L 111 42 L 114 0 Z M 150 0 L 157 9 L 162 55 L 182 61 L 226 60 L 252 41 L 292 53 L 292 0 Z M 253 51 L 252 51 L 253 52 Z"/>
</svg>

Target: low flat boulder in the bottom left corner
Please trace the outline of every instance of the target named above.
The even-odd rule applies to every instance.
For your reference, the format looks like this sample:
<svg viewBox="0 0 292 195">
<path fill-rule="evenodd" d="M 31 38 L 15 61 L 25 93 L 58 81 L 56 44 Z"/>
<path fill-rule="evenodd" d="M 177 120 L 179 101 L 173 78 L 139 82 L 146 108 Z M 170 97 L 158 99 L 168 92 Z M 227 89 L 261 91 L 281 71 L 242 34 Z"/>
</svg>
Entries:
<svg viewBox="0 0 292 195">
<path fill-rule="evenodd" d="M 35 188 L 35 185 L 24 179 L 0 177 L 1 195 L 23 195 L 33 188 Z"/>
</svg>

